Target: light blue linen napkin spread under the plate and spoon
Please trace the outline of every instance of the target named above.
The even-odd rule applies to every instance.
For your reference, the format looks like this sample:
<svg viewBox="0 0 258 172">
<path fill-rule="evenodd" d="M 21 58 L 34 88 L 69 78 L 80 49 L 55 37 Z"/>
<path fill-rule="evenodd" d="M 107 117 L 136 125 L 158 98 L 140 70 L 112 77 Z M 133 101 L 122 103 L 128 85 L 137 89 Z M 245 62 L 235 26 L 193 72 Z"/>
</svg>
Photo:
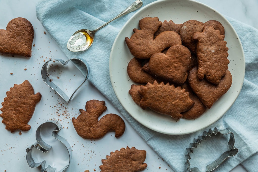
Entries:
<svg viewBox="0 0 258 172">
<path fill-rule="evenodd" d="M 166 135 L 154 132 L 135 121 L 118 101 L 109 77 L 109 56 L 112 44 L 132 12 L 100 29 L 95 35 L 94 44 L 87 51 L 74 53 L 68 51 L 66 44 L 76 30 L 95 29 L 123 11 L 133 0 L 42 0 L 36 5 L 38 20 L 53 37 L 68 58 L 84 58 L 90 66 L 88 80 L 119 110 L 147 144 L 154 149 L 175 171 L 185 171 L 185 154 L 189 143 L 202 135 L 204 130 L 229 127 L 235 136 L 235 146 L 239 152 L 227 159 L 216 171 L 230 171 L 239 163 L 247 170 L 258 169 L 258 30 L 227 17 L 237 31 L 243 44 L 246 60 L 246 73 L 243 88 L 232 107 L 214 124 L 198 132 L 187 135 Z M 153 2 L 144 0 L 144 5 Z M 217 147 L 217 143 L 214 146 Z M 215 158 L 211 150 L 202 149 L 204 154 L 197 162 L 207 164 L 207 159 Z M 147 153 L 148 155 L 148 153 Z M 251 157 L 251 158 L 249 158 Z M 199 161 L 199 162 L 198 162 Z M 192 166 L 191 166 L 192 167 Z"/>
</svg>

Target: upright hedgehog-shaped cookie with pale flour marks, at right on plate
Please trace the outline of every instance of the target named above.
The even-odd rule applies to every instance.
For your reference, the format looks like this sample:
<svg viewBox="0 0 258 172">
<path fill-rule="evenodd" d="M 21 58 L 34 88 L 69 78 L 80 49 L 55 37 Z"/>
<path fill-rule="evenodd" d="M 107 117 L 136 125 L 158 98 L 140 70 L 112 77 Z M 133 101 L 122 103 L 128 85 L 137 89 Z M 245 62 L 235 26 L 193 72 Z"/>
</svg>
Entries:
<svg viewBox="0 0 258 172">
<path fill-rule="evenodd" d="M 204 26 L 203 32 L 196 32 L 193 39 L 198 40 L 198 77 L 218 85 L 228 69 L 228 47 L 224 35 L 212 26 Z"/>
</svg>

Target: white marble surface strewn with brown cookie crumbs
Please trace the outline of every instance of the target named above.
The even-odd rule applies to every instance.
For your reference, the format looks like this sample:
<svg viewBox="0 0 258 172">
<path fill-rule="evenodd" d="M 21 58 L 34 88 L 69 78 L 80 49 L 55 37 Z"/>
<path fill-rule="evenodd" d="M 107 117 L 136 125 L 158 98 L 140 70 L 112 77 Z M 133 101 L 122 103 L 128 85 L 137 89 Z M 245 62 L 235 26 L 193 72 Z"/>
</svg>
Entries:
<svg viewBox="0 0 258 172">
<path fill-rule="evenodd" d="M 0 171 L 39 171 L 30 169 L 26 162 L 26 148 L 35 142 L 35 131 L 37 127 L 49 119 L 58 119 L 65 127 L 59 134 L 65 137 L 73 150 L 73 158 L 67 171 L 100 171 L 101 159 L 105 159 L 111 151 L 122 147 L 135 146 L 137 149 L 147 151 L 146 171 L 173 171 L 165 161 L 163 161 L 126 123 L 126 130 L 123 136 L 115 138 L 110 132 L 103 138 L 95 141 L 84 140 L 79 137 L 71 122 L 71 118 L 77 116 L 79 109 L 85 109 L 85 103 L 91 99 L 104 100 L 106 102 L 107 113 L 119 114 L 119 112 L 101 95 L 88 81 L 80 88 L 79 94 L 70 102 L 64 101 L 47 87 L 41 78 L 41 67 L 44 60 L 50 58 L 65 58 L 59 47 L 55 44 L 41 23 L 36 18 L 35 4 L 38 0 L 1 0 L 0 1 L 0 29 L 5 29 L 6 24 L 13 18 L 23 17 L 28 19 L 34 26 L 35 47 L 32 47 L 32 57 L 22 58 L 17 56 L 0 54 L 0 100 L 6 97 L 6 91 L 13 87 L 14 83 L 22 83 L 29 80 L 33 85 L 35 93 L 42 93 L 42 100 L 37 104 L 35 112 L 29 124 L 31 129 L 28 132 L 19 131 L 10 133 L 5 130 L 5 125 L 0 123 Z M 144 1 L 143 1 L 144 2 Z M 208 6 L 213 7 L 221 14 L 235 18 L 255 28 L 258 28 L 258 1 L 255 0 L 199 0 Z M 24 70 L 24 69 L 27 70 Z M 13 73 L 13 75 L 10 75 Z M 85 96 L 86 95 L 86 96 Z M 66 107 L 61 104 L 66 105 Z M 2 107 L 2 106 L 1 106 Z M 54 159 L 56 160 L 56 159 Z M 53 161 L 54 161 L 53 160 Z M 145 170 L 144 170 L 145 171 Z M 239 165 L 232 172 L 246 171 Z"/>
</svg>

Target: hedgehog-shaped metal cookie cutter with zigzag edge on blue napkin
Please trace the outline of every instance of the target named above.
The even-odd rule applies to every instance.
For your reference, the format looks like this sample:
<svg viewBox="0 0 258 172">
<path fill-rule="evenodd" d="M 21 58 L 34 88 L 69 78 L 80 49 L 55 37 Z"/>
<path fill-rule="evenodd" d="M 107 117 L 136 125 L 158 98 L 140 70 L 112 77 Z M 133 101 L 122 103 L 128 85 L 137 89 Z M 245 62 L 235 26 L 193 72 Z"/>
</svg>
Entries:
<svg viewBox="0 0 258 172">
<path fill-rule="evenodd" d="M 219 158 L 217 158 L 215 161 L 213 161 L 211 164 L 206 166 L 206 171 L 205 172 L 209 172 L 214 170 L 215 168 L 219 167 L 221 165 L 221 163 L 229 158 L 229 157 L 233 157 L 237 154 L 238 149 L 235 148 L 234 144 L 235 144 L 235 138 L 233 133 L 230 131 L 229 128 L 226 128 L 224 130 L 218 130 L 216 127 L 212 130 L 209 129 L 208 132 L 204 131 L 202 136 L 198 136 L 198 138 L 194 139 L 194 143 L 190 143 L 191 148 L 187 148 L 187 154 L 185 155 L 186 157 L 186 165 L 187 165 L 187 169 L 189 171 L 193 171 L 193 172 L 201 172 L 197 167 L 193 167 L 190 168 L 190 162 L 189 160 L 191 159 L 190 154 L 193 153 L 193 149 L 197 148 L 197 144 L 200 144 L 201 141 L 205 141 L 207 136 L 212 136 L 212 134 L 217 135 L 217 133 L 221 133 L 223 135 L 227 135 L 229 134 L 229 141 L 228 141 L 228 146 L 230 148 L 229 151 L 225 151 L 224 153 L 222 153 L 222 155 L 220 155 Z"/>
</svg>

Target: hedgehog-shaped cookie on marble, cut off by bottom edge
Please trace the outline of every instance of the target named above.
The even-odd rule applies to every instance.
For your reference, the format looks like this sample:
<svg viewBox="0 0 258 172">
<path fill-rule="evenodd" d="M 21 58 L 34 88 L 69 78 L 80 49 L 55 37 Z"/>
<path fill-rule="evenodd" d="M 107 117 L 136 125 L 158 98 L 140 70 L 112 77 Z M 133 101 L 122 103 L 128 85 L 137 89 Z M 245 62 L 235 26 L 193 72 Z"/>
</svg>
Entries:
<svg viewBox="0 0 258 172">
<path fill-rule="evenodd" d="M 146 151 L 138 150 L 135 147 L 121 148 L 120 151 L 110 152 L 110 156 L 107 155 L 106 159 L 102 159 L 102 164 L 99 166 L 101 172 L 136 172 L 142 171 L 147 168 L 147 164 L 144 163 L 146 159 Z"/>
</svg>

